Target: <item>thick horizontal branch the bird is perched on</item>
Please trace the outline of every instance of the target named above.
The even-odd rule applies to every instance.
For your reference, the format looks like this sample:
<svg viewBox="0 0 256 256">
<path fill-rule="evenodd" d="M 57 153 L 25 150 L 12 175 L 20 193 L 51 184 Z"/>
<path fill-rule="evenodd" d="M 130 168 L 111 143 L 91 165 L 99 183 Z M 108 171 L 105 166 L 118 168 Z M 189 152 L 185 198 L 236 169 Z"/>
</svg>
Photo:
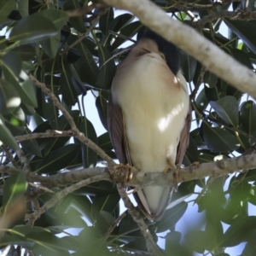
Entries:
<svg viewBox="0 0 256 256">
<path fill-rule="evenodd" d="M 166 175 L 162 172 L 140 172 L 134 169 L 129 186 L 174 186 L 176 178 L 178 182 L 186 182 L 190 180 L 200 179 L 203 177 L 220 177 L 232 172 L 241 170 L 250 170 L 256 167 L 256 154 L 247 154 L 240 157 L 218 160 L 216 162 L 203 163 L 195 166 L 188 166 L 180 169 L 179 176 L 173 177 L 173 171 Z M 0 172 L 11 172 L 13 168 L 0 167 Z M 44 187 L 52 188 L 55 186 L 64 186 L 70 183 L 76 183 L 89 177 L 102 175 L 102 179 L 114 180 L 122 183 L 124 175 L 119 170 L 107 167 L 96 167 L 74 170 L 70 172 L 58 173 L 50 177 L 42 177 L 30 173 L 28 178 L 30 181 L 40 182 Z"/>
</svg>

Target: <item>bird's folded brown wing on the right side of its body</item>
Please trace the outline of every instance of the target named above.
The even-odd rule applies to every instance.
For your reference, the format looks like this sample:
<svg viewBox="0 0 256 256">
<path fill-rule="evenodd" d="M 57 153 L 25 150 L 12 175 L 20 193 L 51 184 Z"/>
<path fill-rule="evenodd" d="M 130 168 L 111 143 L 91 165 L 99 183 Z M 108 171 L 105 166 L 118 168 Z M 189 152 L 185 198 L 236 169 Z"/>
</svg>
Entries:
<svg viewBox="0 0 256 256">
<path fill-rule="evenodd" d="M 192 108 L 191 104 L 189 104 L 189 113 L 185 119 L 185 124 L 183 126 L 183 131 L 179 137 L 179 144 L 177 147 L 177 156 L 176 156 L 176 165 L 181 166 L 183 162 L 184 154 L 186 153 L 187 148 L 189 147 L 189 131 L 191 126 L 191 113 Z"/>
</svg>

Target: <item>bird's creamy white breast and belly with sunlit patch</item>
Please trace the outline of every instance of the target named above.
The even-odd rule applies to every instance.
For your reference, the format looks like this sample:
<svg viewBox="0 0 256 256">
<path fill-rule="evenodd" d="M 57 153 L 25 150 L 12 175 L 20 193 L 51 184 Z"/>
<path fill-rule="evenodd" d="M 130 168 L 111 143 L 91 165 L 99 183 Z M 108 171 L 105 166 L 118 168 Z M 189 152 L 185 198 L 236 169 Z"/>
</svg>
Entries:
<svg viewBox="0 0 256 256">
<path fill-rule="evenodd" d="M 189 110 L 187 84 L 174 76 L 156 53 L 123 61 L 113 79 L 113 101 L 122 108 L 135 167 L 162 172 L 166 159 L 174 165 L 177 144 Z"/>
</svg>

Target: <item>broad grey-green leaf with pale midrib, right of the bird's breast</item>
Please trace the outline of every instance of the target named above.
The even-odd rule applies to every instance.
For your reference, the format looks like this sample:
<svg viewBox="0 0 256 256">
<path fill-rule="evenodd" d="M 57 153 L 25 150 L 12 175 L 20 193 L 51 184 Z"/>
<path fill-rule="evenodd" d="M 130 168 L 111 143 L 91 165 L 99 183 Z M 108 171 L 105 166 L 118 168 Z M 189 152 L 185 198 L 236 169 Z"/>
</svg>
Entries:
<svg viewBox="0 0 256 256">
<path fill-rule="evenodd" d="M 238 125 L 238 102 L 234 96 L 224 96 L 217 102 L 210 102 L 211 107 L 228 125 Z"/>
</svg>

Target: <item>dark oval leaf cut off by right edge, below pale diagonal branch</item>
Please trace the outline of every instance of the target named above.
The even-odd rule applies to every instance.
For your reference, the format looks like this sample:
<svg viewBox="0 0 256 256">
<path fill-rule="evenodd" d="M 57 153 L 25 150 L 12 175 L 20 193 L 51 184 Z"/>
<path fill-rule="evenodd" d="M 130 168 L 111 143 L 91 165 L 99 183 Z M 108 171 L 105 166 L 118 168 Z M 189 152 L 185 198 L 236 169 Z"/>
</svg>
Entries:
<svg viewBox="0 0 256 256">
<path fill-rule="evenodd" d="M 244 130 L 252 135 L 256 131 L 256 104 L 253 101 L 243 102 L 241 104 L 240 122 Z"/>
</svg>

